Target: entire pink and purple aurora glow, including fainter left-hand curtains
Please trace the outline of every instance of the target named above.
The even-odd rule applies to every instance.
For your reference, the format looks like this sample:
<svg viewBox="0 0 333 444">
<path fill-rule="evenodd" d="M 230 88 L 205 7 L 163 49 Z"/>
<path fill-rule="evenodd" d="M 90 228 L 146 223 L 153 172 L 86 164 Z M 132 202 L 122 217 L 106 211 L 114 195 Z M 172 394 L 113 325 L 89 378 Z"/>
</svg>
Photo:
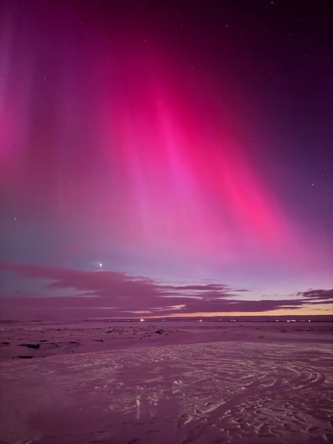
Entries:
<svg viewBox="0 0 333 444">
<path fill-rule="evenodd" d="M 125 32 L 116 19 L 110 28 L 98 11 L 74 20 L 65 4 L 52 14 L 8 5 L 0 152 L 12 256 L 80 266 L 110 258 L 110 268 L 146 275 L 172 264 L 178 278 L 182 269 L 185 279 L 239 273 L 245 287 L 267 268 L 271 282 L 282 270 L 298 280 L 329 274 L 327 237 L 269 178 L 273 148 L 259 138 L 266 157 L 255 163 L 239 137 L 235 97 L 262 128 L 274 122 L 242 96 L 246 77 L 233 76 L 232 61 L 216 73 L 197 56 L 192 67 L 190 44 L 180 56 L 156 30 L 148 38 L 135 22 Z"/>
</svg>

